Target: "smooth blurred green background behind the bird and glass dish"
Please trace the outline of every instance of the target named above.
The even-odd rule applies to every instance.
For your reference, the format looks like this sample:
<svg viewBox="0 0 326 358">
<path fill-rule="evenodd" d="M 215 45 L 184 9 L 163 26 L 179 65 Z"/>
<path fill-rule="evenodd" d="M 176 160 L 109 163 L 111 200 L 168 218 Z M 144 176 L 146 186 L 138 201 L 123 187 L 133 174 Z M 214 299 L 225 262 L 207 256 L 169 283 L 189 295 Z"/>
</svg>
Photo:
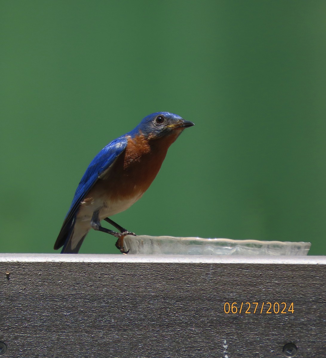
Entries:
<svg viewBox="0 0 326 358">
<path fill-rule="evenodd" d="M 115 221 L 325 255 L 325 13 L 324 0 L 2 0 L 1 252 L 54 252 L 95 154 L 169 111 L 196 125 Z M 114 242 L 92 231 L 81 252 Z"/>
</svg>

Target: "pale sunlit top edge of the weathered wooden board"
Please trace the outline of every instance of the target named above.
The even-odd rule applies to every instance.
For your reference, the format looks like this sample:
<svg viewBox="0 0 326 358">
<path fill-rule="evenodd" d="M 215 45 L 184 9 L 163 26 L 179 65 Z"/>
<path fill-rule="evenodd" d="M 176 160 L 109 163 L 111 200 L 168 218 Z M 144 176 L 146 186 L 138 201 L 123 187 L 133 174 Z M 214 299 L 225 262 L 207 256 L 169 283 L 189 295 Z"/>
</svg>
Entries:
<svg viewBox="0 0 326 358">
<path fill-rule="evenodd" d="M 195 256 L 0 253 L 0 262 L 248 263 L 326 265 L 326 256 Z"/>
</svg>

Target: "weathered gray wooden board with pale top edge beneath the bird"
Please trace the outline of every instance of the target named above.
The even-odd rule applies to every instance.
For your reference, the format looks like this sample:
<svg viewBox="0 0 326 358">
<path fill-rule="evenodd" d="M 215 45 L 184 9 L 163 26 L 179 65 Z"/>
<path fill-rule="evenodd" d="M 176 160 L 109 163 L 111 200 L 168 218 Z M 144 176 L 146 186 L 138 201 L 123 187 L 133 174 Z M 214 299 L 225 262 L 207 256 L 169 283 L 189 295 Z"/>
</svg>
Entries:
<svg viewBox="0 0 326 358">
<path fill-rule="evenodd" d="M 322 256 L 0 255 L 0 272 L 4 357 L 325 356 Z M 247 301 L 294 313 L 224 312 Z"/>
</svg>

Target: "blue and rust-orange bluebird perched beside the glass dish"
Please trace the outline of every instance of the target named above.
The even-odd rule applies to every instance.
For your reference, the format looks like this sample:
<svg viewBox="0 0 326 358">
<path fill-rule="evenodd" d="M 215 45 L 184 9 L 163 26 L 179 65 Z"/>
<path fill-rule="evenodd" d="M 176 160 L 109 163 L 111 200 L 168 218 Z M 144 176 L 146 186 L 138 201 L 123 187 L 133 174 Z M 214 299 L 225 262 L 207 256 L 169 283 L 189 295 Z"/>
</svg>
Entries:
<svg viewBox="0 0 326 358">
<path fill-rule="evenodd" d="M 142 197 L 159 172 L 167 149 L 186 127 L 194 123 L 169 112 L 145 117 L 132 131 L 113 140 L 91 161 L 77 187 L 62 224 L 55 250 L 78 253 L 91 228 L 118 238 L 123 253 L 128 232 L 109 216 L 128 209 Z M 105 220 L 119 232 L 101 226 Z"/>
</svg>

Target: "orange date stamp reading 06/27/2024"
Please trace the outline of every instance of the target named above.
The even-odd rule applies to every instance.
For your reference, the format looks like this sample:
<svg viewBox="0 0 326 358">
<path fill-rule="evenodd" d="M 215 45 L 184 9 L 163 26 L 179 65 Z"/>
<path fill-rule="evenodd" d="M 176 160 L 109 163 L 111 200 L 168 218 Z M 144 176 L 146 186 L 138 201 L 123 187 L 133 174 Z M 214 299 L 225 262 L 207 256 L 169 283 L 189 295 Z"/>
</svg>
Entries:
<svg viewBox="0 0 326 358">
<path fill-rule="evenodd" d="M 286 302 L 226 302 L 226 314 L 291 314 L 294 313 L 294 303 Z"/>
</svg>

